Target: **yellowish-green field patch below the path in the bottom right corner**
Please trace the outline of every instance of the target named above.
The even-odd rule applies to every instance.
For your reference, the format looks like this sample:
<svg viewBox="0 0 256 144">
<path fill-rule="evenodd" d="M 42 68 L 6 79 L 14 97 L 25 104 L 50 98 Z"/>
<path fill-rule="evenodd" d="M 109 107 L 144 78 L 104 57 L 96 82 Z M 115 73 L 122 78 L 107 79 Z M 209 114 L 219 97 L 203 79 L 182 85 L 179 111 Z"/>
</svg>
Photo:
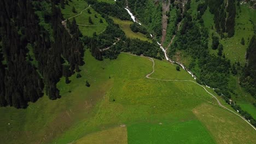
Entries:
<svg viewBox="0 0 256 144">
<path fill-rule="evenodd" d="M 255 143 L 255 130 L 245 128 L 241 118 L 223 111 L 218 106 L 202 104 L 193 110 L 196 117 L 205 125 L 217 143 Z M 229 119 L 232 119 L 230 121 Z M 238 124 L 240 123 L 240 124 Z M 249 137 L 254 137 L 253 139 Z"/>
</svg>

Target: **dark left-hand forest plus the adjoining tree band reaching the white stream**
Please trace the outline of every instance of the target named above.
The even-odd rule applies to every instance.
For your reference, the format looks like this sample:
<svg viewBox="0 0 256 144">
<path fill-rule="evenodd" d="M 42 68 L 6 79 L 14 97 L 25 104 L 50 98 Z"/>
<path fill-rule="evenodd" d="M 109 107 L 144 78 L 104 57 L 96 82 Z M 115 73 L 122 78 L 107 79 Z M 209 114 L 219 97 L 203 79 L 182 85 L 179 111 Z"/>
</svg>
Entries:
<svg viewBox="0 0 256 144">
<path fill-rule="evenodd" d="M 60 7 L 65 8 L 68 1 L 0 2 L 1 106 L 26 108 L 28 101 L 35 102 L 44 93 L 52 100 L 61 98 L 56 84 L 62 76 L 66 83 L 71 82 L 68 77 L 80 71 L 85 47 L 89 47 L 92 56 L 98 60 L 117 58 L 120 51 L 161 59 L 162 53 L 155 43 L 127 39 L 109 17 L 131 20 L 121 1 L 115 5 L 97 1 L 88 3 L 108 22 L 105 31 L 92 38 L 82 35 L 75 19 L 64 21 Z M 37 11 L 42 13 L 43 19 Z M 40 23 L 49 25 L 50 29 Z M 102 51 L 107 47 L 111 49 Z M 161 55 L 157 56 L 159 52 Z"/>
</svg>

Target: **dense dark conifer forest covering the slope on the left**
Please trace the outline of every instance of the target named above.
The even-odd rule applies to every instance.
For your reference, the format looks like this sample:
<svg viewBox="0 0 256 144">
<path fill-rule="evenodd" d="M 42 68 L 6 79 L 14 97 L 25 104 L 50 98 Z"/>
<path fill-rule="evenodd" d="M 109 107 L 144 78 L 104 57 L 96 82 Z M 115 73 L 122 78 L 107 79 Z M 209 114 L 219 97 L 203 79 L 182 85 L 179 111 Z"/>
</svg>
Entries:
<svg viewBox="0 0 256 144">
<path fill-rule="evenodd" d="M 25 108 L 28 101 L 36 101 L 45 92 L 50 99 L 60 98 L 56 83 L 63 75 L 65 58 L 69 63 L 69 74 L 79 71 L 83 65 L 83 43 L 79 40 L 79 29 L 73 27 L 69 34 L 61 25 L 63 20 L 59 1 L 46 1 L 51 7 L 50 19 L 53 39 L 49 32 L 39 25 L 35 9 L 39 1 L 1 1 L 1 47 L 6 64 L 1 66 L 0 105 Z M 35 8 L 33 4 L 36 4 Z M 75 22 L 74 22 L 75 23 Z M 35 59 L 27 59 L 27 46 L 31 45 Z M 3 58 L 2 58 L 3 57 Z M 37 61 L 38 65 L 32 65 Z M 66 75 L 66 76 L 68 76 Z"/>
</svg>

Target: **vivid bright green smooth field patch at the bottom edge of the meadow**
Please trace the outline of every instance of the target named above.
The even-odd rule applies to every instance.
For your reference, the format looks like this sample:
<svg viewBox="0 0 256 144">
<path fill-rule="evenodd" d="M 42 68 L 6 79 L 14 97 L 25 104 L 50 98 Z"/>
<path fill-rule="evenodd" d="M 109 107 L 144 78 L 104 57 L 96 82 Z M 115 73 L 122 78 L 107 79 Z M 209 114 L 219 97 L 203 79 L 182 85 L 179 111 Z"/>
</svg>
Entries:
<svg viewBox="0 0 256 144">
<path fill-rule="evenodd" d="M 215 143 L 197 120 L 176 123 L 139 123 L 127 127 L 128 143 Z"/>
</svg>

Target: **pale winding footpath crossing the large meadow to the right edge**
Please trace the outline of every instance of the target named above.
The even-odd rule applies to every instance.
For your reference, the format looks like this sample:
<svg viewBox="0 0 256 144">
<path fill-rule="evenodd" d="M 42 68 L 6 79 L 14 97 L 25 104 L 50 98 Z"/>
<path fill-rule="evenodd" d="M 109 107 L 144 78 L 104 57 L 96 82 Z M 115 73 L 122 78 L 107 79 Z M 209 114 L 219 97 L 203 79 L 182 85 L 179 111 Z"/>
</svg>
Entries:
<svg viewBox="0 0 256 144">
<path fill-rule="evenodd" d="M 121 53 L 126 53 L 126 54 L 128 54 L 128 55 L 137 56 L 137 55 L 133 55 L 133 54 L 127 53 L 127 52 L 121 52 Z M 254 130 L 256 130 L 256 128 L 255 128 L 250 122 L 248 122 L 244 117 L 238 115 L 236 112 L 234 112 L 234 111 L 230 110 L 228 107 L 225 107 L 224 105 L 222 105 L 222 103 L 220 103 L 219 99 L 218 99 L 215 95 L 213 95 L 212 93 L 210 93 L 205 87 L 203 87 L 203 86 L 200 85 L 199 83 L 197 83 L 197 82 L 195 82 L 195 81 L 191 81 L 191 80 L 165 80 L 165 79 L 156 79 L 156 78 L 150 77 L 150 75 L 152 75 L 152 74 L 155 72 L 155 61 L 154 61 L 154 59 L 151 58 L 151 57 L 146 57 L 146 56 L 138 56 L 138 57 L 145 57 L 145 58 L 148 58 L 150 61 L 153 62 L 153 66 L 152 66 L 153 70 L 152 70 L 151 73 L 149 73 L 149 74 L 146 75 L 146 78 L 147 78 L 147 79 L 158 80 L 158 81 L 193 82 L 193 83 L 195 83 L 196 85 L 198 85 L 198 86 L 202 87 L 203 89 L 205 89 L 205 91 L 206 91 L 208 94 L 210 94 L 214 99 L 216 99 L 219 106 L 223 107 L 224 109 L 226 109 L 226 110 L 228 110 L 228 111 L 234 113 L 234 114 L 237 115 L 238 117 L 242 118 L 243 121 L 247 122 L 249 125 L 251 125 L 251 127 L 252 127 Z"/>
</svg>

